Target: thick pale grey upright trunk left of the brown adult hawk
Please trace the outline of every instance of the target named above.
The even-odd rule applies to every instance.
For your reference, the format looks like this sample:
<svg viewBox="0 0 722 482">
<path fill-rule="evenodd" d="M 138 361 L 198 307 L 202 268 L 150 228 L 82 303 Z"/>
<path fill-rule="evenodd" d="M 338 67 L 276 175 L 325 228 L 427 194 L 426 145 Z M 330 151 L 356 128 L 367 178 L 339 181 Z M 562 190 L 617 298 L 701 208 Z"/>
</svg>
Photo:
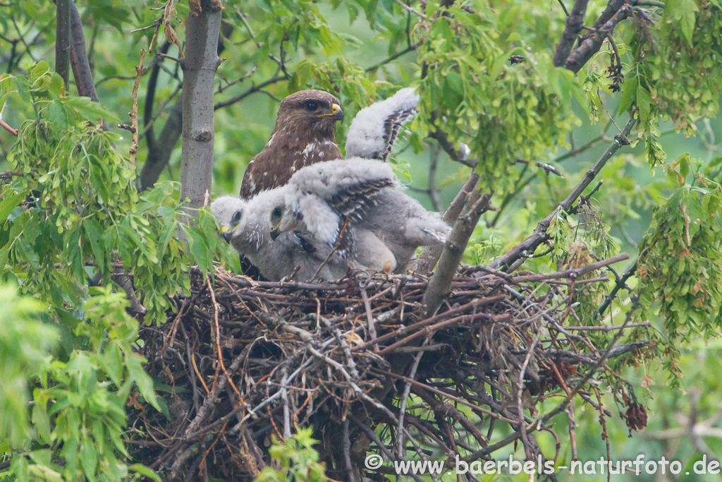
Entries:
<svg viewBox="0 0 722 482">
<path fill-rule="evenodd" d="M 213 178 L 213 89 L 218 58 L 218 33 L 222 1 L 206 0 L 191 14 L 186 29 L 186 58 L 183 68 L 183 151 L 181 154 L 181 199 L 188 207 L 203 206 Z M 183 233 L 179 236 L 184 238 Z"/>
</svg>

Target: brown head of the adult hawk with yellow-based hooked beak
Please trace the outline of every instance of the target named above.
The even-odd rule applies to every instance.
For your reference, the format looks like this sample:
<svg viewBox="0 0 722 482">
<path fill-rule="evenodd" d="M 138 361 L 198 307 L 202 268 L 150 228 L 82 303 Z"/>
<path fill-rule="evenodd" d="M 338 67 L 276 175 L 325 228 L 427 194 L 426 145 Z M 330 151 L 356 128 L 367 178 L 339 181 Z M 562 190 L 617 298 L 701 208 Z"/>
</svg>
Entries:
<svg viewBox="0 0 722 482">
<path fill-rule="evenodd" d="M 336 121 L 344 121 L 339 99 L 323 90 L 301 90 L 281 101 L 276 129 L 310 130 L 316 135 L 336 132 Z"/>
</svg>

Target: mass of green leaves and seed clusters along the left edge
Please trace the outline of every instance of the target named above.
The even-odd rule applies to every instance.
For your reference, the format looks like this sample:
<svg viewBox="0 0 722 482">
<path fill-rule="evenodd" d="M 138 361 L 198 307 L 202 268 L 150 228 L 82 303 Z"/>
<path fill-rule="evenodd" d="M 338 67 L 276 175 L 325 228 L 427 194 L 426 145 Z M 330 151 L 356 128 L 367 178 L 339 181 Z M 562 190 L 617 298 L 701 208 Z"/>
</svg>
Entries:
<svg viewBox="0 0 722 482">
<path fill-rule="evenodd" d="M 37 113 L 7 156 L 22 176 L 0 188 L 0 264 L 10 267 L 1 277 L 40 298 L 57 325 L 40 322 L 27 298 L 2 291 L 3 306 L 12 309 L 0 315 L 7 357 L 1 384 L 14 395 L 0 396 L 0 427 L 10 443 L 0 452 L 12 455 L 6 474 L 20 480 L 156 477 L 125 463 L 129 400 L 161 405 L 134 351 L 138 322 L 126 313 L 126 291 L 113 283 L 123 281 L 113 273 L 121 267 L 132 277 L 147 323 L 165 322 L 165 311 L 175 308 L 169 297 L 188 292 L 188 267 L 208 270 L 224 255 L 207 209 L 196 226 L 184 227 L 186 254 L 177 238 L 177 185 L 139 194 L 133 166 L 113 146 L 118 136 L 88 124 L 108 113 L 90 99 L 64 97 L 58 80 L 40 62 L 28 77 L 0 82 L 2 100 L 30 103 Z M 44 357 L 51 346 L 53 356 Z"/>
</svg>

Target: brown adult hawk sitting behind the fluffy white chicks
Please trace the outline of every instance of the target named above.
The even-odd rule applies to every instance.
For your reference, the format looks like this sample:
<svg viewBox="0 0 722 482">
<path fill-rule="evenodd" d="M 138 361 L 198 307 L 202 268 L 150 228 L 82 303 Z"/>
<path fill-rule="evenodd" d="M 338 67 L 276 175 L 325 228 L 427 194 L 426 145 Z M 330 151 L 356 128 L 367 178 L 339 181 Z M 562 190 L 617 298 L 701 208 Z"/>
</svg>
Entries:
<svg viewBox="0 0 722 482">
<path fill-rule="evenodd" d="M 283 186 L 305 165 L 342 159 L 335 134 L 343 120 L 339 99 L 329 92 L 301 90 L 284 98 L 271 139 L 245 169 L 240 197 Z"/>
</svg>

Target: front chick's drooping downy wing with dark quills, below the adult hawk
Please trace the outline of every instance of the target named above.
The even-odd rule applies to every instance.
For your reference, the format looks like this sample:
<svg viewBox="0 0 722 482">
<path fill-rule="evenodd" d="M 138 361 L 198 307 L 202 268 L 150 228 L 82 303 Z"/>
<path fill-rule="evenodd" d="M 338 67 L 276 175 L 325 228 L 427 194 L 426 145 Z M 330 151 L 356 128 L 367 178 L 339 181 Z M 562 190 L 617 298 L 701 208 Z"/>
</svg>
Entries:
<svg viewBox="0 0 722 482">
<path fill-rule="evenodd" d="M 391 167 L 378 160 L 347 159 L 309 165 L 292 176 L 287 209 L 303 218 L 310 236 L 347 251 L 353 226 L 375 197 L 394 186 Z"/>
</svg>

